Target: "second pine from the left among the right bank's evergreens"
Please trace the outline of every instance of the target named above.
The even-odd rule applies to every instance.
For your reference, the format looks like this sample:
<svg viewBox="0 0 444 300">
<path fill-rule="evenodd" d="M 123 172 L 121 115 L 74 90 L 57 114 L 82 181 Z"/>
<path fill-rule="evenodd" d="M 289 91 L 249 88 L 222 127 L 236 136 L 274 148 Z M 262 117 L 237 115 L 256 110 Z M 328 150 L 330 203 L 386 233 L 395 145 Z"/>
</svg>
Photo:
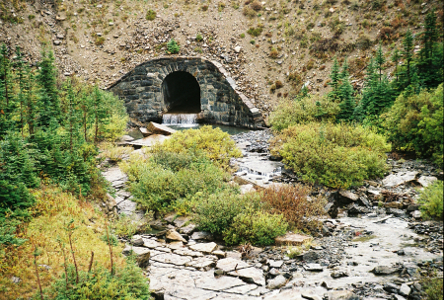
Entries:
<svg viewBox="0 0 444 300">
<path fill-rule="evenodd" d="M 348 73 L 347 59 L 342 64 L 342 71 L 340 74 L 341 85 L 338 87 L 338 94 L 341 100 L 339 108 L 338 119 L 344 121 L 351 121 L 353 118 L 353 111 L 355 109 L 355 103 L 353 98 L 353 87 L 350 84 Z"/>
</svg>

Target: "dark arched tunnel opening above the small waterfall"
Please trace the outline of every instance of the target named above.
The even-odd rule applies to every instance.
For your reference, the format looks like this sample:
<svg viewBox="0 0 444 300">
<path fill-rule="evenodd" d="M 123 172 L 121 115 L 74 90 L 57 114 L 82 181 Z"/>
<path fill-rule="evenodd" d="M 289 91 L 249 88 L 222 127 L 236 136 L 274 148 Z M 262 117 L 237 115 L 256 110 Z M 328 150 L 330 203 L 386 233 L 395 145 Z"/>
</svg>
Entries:
<svg viewBox="0 0 444 300">
<path fill-rule="evenodd" d="M 196 78 L 188 72 L 169 74 L 162 83 L 164 102 L 169 113 L 199 113 L 200 87 Z"/>
</svg>

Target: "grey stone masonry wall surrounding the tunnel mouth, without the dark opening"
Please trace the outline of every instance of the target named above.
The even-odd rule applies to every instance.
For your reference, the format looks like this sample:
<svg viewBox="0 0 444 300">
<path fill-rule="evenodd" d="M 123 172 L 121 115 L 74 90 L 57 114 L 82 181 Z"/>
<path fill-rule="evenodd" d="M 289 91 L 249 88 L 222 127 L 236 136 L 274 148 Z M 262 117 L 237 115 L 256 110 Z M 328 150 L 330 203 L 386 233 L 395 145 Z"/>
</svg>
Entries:
<svg viewBox="0 0 444 300">
<path fill-rule="evenodd" d="M 150 60 L 124 75 L 108 90 L 124 99 L 133 122 L 160 122 L 166 112 L 163 80 L 175 71 L 193 75 L 200 86 L 203 118 L 208 123 L 258 128 L 262 114 L 241 92 L 217 62 L 195 57 Z"/>
</svg>

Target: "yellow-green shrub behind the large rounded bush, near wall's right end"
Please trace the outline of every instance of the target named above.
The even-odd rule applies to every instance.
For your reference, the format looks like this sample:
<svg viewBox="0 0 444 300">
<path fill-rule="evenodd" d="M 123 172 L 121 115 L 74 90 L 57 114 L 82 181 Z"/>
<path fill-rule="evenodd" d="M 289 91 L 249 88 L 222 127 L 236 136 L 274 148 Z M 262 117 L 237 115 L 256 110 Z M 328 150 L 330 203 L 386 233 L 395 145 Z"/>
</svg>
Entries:
<svg viewBox="0 0 444 300">
<path fill-rule="evenodd" d="M 300 100 L 284 99 L 270 116 L 275 130 L 283 130 L 296 124 L 313 121 L 334 121 L 339 113 L 339 105 L 326 97 L 309 95 Z"/>
</svg>

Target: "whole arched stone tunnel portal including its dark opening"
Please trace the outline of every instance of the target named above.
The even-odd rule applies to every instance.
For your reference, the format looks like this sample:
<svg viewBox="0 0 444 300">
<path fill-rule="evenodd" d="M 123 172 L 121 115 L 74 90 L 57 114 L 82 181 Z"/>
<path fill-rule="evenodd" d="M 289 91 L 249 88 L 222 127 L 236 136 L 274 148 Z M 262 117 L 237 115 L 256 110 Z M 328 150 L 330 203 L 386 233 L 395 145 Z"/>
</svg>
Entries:
<svg viewBox="0 0 444 300">
<path fill-rule="evenodd" d="M 262 114 L 221 64 L 167 57 L 135 67 L 108 88 L 124 99 L 132 121 L 160 122 L 164 113 L 200 113 L 207 123 L 258 128 Z"/>
</svg>

